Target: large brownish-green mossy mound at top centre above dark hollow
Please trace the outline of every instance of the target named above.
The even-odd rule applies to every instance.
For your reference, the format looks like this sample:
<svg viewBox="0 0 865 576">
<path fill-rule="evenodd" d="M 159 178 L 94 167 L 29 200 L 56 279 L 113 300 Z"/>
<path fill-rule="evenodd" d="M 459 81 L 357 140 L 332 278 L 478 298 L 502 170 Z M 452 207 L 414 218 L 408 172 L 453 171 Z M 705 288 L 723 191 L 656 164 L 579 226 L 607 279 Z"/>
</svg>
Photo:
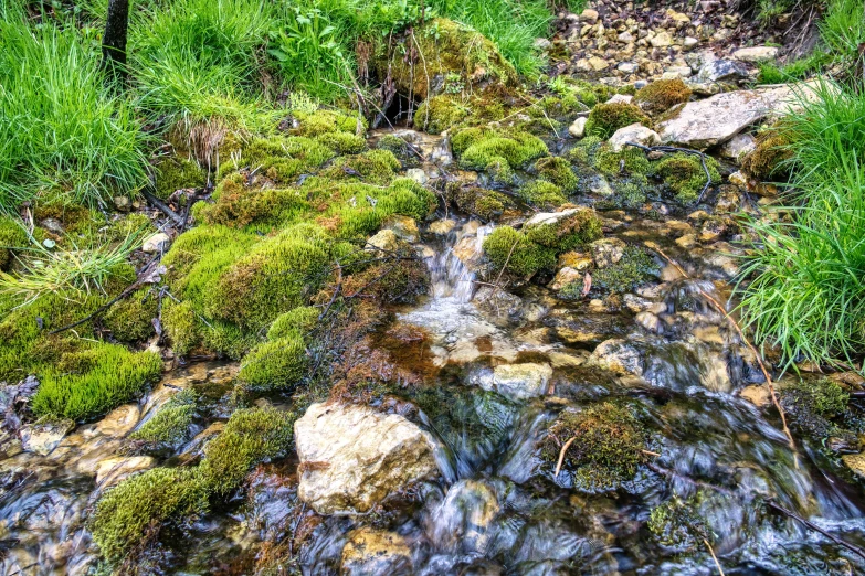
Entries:
<svg viewBox="0 0 865 576">
<path fill-rule="evenodd" d="M 423 99 L 439 92 L 468 94 L 517 82 L 516 71 L 492 41 L 452 20 L 435 18 L 401 42 L 383 42 L 388 45 L 377 50 L 373 65 L 380 78 L 393 79 L 400 94 Z"/>
</svg>

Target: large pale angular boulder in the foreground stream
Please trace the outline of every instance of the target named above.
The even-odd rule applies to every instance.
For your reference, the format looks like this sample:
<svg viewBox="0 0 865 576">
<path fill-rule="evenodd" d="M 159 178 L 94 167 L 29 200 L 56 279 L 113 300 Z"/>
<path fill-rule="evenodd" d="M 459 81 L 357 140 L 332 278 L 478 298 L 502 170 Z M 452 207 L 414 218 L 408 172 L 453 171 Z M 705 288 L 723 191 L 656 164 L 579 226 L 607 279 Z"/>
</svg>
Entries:
<svg viewBox="0 0 865 576">
<path fill-rule="evenodd" d="M 297 494 L 319 514 L 358 514 L 437 473 L 429 433 L 366 406 L 313 404 L 294 425 Z"/>
</svg>

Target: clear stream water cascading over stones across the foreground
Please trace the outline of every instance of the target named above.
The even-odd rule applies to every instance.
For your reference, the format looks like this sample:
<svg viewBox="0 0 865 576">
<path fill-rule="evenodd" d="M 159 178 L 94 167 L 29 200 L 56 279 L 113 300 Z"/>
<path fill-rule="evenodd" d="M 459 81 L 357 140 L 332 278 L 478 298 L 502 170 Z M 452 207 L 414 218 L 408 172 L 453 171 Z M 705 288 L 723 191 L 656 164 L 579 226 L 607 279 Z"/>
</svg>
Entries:
<svg viewBox="0 0 865 576">
<path fill-rule="evenodd" d="M 304 533 L 291 567 L 337 574 L 349 534 L 361 526 L 395 533 L 408 546 L 399 561 L 372 564 L 368 574 L 696 576 L 717 574 L 713 553 L 727 575 L 862 570 L 863 558 L 767 508 L 771 498 L 865 545 L 858 492 L 817 469 L 810 448 L 795 460 L 778 423 L 732 394 L 759 374 L 722 316 L 700 299 L 702 291 L 722 288 L 709 281 L 715 271 L 689 260 L 703 279 L 665 270 L 661 289 L 639 297 L 645 302 L 599 311 L 542 288 L 515 296 L 478 282 L 475 266 L 489 232 L 455 222 L 446 234 L 424 233 L 432 294 L 395 311 L 398 322 L 429 334 L 435 370 L 404 396 L 420 407 L 415 422 L 440 446 L 441 478 L 366 515 L 319 518 L 297 498 L 295 461 L 263 467 L 245 497 L 188 526 L 187 535 L 163 538 L 168 573 L 252 574 L 263 542 Z M 634 323 L 629 303 L 654 307 L 664 322 L 660 333 Z M 611 375 L 590 362 L 590 352 L 610 338 L 626 341 L 623 358 L 640 377 Z M 527 393 L 496 385 L 503 365 L 538 372 L 540 387 Z M 120 454 L 123 436 L 173 391 L 199 386 L 224 397 L 234 370 L 190 366 L 139 405 L 77 428 L 48 457 L 21 452 L 0 460 L 0 573 L 93 569 L 84 520 L 104 489 L 93 471 Z M 579 479 L 567 467 L 556 476 L 539 442 L 563 410 L 606 401 L 639 414 L 650 458 L 615 490 L 576 489 Z M 197 431 L 179 455 L 200 450 L 209 436 Z"/>
</svg>

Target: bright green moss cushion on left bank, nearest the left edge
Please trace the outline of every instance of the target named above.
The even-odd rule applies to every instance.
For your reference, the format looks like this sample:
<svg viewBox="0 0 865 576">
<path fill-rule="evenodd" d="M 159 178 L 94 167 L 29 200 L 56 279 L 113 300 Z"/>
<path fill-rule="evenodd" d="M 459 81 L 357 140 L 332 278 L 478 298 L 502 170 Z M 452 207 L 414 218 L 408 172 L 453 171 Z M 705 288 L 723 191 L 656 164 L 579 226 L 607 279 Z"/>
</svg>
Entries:
<svg viewBox="0 0 865 576">
<path fill-rule="evenodd" d="M 31 408 L 39 416 L 93 418 L 134 399 L 161 373 L 162 361 L 154 352 L 92 344 L 62 354 L 56 366 L 42 374 Z"/>
</svg>

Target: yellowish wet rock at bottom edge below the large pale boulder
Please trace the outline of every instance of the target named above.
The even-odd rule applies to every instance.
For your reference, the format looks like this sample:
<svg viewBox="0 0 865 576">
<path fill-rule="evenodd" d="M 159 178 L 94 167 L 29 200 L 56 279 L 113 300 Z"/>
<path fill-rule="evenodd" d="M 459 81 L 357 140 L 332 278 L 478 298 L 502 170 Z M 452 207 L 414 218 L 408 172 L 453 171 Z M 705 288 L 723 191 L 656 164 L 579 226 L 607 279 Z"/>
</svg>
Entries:
<svg viewBox="0 0 865 576">
<path fill-rule="evenodd" d="M 411 548 L 395 532 L 363 526 L 348 533 L 340 576 L 412 574 Z"/>
</svg>

